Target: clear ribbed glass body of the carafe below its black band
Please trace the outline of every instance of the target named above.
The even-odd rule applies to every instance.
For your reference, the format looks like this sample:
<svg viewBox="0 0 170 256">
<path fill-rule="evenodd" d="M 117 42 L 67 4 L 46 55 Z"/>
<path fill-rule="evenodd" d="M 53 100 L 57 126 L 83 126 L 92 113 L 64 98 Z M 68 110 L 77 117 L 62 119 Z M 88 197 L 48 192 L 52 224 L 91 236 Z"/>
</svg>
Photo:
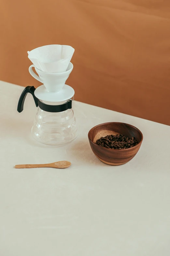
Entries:
<svg viewBox="0 0 170 256">
<path fill-rule="evenodd" d="M 61 145 L 74 140 L 77 137 L 77 126 L 73 109 L 47 112 L 38 106 L 32 135 L 38 142 L 49 145 Z"/>
</svg>

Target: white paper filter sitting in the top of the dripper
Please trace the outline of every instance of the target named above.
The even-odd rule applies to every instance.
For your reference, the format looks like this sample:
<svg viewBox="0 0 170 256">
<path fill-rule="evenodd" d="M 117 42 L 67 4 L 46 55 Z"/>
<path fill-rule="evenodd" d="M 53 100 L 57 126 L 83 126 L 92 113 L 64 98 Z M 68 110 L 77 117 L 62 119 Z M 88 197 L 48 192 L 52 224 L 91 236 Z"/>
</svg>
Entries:
<svg viewBox="0 0 170 256">
<path fill-rule="evenodd" d="M 28 58 L 43 72 L 61 73 L 67 70 L 73 53 L 69 45 L 50 44 L 28 51 Z"/>
</svg>

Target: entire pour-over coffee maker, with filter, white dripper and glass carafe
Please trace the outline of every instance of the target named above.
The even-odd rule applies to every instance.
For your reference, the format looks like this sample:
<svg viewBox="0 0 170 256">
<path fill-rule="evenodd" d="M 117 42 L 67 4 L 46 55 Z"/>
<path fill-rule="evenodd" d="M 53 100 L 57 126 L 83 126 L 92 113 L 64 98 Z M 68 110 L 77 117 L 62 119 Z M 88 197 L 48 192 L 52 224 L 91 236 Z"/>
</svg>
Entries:
<svg viewBox="0 0 170 256">
<path fill-rule="evenodd" d="M 74 48 L 71 46 L 57 44 L 38 47 L 28 52 L 28 58 L 34 63 L 29 67 L 29 72 L 43 85 L 37 89 L 27 86 L 20 96 L 17 110 L 23 110 L 26 95 L 31 93 L 37 107 L 32 135 L 38 142 L 61 145 L 77 137 L 72 109 L 75 92 L 65 84 L 73 70 L 70 62 L 73 53 Z"/>
</svg>

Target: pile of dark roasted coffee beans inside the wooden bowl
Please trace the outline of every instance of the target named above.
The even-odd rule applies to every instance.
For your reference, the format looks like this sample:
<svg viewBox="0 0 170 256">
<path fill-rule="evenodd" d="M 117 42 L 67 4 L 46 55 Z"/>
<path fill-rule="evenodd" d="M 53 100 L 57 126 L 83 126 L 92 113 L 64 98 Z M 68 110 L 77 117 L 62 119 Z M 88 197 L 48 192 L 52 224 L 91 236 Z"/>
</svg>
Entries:
<svg viewBox="0 0 170 256">
<path fill-rule="evenodd" d="M 135 137 L 129 138 L 125 137 L 123 134 L 107 135 L 106 137 L 101 137 L 96 141 L 100 147 L 106 147 L 111 149 L 126 149 L 137 145 Z"/>
</svg>

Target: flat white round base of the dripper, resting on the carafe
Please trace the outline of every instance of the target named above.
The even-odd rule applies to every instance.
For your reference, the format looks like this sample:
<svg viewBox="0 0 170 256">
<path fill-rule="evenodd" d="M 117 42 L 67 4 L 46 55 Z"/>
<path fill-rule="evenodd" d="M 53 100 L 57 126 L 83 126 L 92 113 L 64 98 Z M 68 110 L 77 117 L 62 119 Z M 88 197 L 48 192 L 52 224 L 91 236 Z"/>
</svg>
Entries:
<svg viewBox="0 0 170 256">
<path fill-rule="evenodd" d="M 64 84 L 63 89 L 58 93 L 48 92 L 45 86 L 41 85 L 36 88 L 34 94 L 35 97 L 42 101 L 61 102 L 71 99 L 74 96 L 75 92 L 74 89 L 67 84 Z"/>
</svg>

